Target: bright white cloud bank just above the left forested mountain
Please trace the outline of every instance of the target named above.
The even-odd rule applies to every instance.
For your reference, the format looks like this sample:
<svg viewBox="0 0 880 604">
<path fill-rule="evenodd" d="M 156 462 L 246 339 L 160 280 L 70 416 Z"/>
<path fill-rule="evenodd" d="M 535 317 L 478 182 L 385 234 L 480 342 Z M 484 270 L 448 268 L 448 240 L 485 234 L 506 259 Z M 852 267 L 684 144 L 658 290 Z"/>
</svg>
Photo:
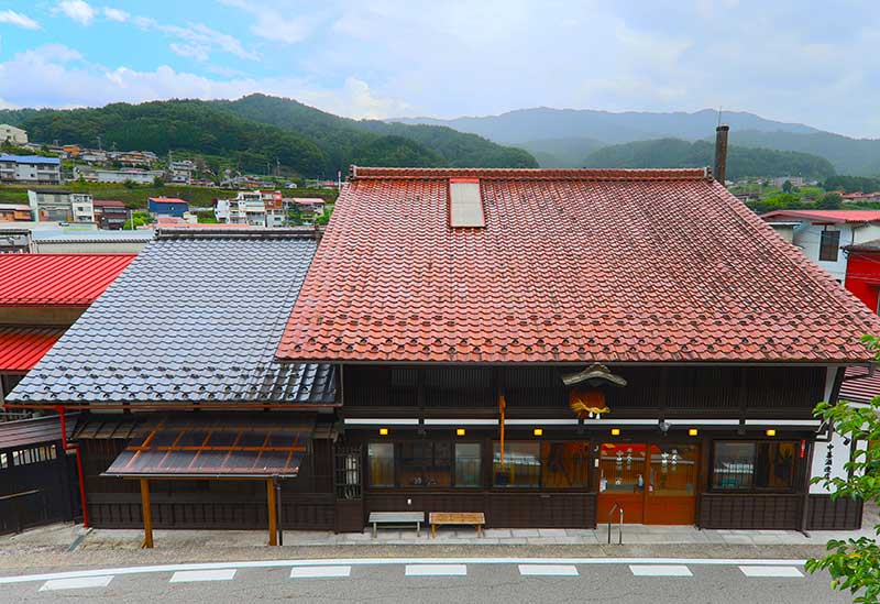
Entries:
<svg viewBox="0 0 880 604">
<path fill-rule="evenodd" d="M 107 68 L 86 63 L 78 52 L 61 45 L 41 46 L 0 63 L 0 90 L 14 90 L 8 102 L 23 107 L 95 107 L 168 98 L 234 99 L 264 92 L 351 118 L 378 118 L 408 109 L 403 102 L 377 96 L 356 78 L 333 88 L 289 76 L 213 79 L 167 65 L 152 72 Z"/>
</svg>

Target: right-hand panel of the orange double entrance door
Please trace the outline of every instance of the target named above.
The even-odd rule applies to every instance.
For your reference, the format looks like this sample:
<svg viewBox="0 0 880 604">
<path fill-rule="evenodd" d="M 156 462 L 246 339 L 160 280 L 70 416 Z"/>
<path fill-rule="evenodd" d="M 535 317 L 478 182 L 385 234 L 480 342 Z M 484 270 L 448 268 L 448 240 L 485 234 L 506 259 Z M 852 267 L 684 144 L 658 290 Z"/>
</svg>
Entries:
<svg viewBox="0 0 880 604">
<path fill-rule="evenodd" d="M 694 524 L 700 447 L 652 443 L 648 449 L 645 524 Z"/>
</svg>

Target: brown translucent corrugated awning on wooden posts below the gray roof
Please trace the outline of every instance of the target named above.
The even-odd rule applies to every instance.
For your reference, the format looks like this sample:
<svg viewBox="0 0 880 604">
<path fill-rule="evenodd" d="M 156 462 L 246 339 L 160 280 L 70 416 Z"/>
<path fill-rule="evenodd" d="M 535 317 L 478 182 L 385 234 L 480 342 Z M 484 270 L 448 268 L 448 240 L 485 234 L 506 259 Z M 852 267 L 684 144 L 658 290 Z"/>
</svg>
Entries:
<svg viewBox="0 0 880 604">
<path fill-rule="evenodd" d="M 254 416 L 166 417 L 135 436 L 102 475 L 293 477 L 309 450 L 315 416 L 297 422 Z"/>
</svg>

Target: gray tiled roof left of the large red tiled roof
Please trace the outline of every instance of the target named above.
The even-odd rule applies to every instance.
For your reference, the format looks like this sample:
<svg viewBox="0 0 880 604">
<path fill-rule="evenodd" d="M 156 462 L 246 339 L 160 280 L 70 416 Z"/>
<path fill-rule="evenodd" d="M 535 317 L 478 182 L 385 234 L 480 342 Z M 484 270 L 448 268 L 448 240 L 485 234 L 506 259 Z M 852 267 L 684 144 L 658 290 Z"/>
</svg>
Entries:
<svg viewBox="0 0 880 604">
<path fill-rule="evenodd" d="M 274 359 L 316 248 L 287 230 L 160 233 L 8 400 L 332 403 L 331 365 Z"/>
</svg>

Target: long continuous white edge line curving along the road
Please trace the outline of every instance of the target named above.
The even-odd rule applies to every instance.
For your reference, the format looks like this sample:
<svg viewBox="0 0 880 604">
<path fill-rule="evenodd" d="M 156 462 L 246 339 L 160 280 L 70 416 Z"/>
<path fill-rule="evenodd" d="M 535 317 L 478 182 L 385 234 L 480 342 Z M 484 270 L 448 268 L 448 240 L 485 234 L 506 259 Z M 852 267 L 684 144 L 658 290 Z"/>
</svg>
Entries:
<svg viewBox="0 0 880 604">
<path fill-rule="evenodd" d="M 155 564 L 151 567 L 117 567 L 111 569 L 94 569 L 81 571 L 45 572 L 38 574 L 20 574 L 0 576 L 0 585 L 28 583 L 31 581 L 51 581 L 55 579 L 78 579 L 81 576 L 103 576 L 121 574 L 150 574 L 157 572 L 178 572 L 220 569 L 283 569 L 295 567 L 378 567 L 388 564 L 689 564 L 689 565 L 790 565 L 803 567 L 804 560 L 750 558 L 334 558 L 320 560 L 253 560 L 243 562 L 199 562 L 187 564 Z"/>
</svg>

